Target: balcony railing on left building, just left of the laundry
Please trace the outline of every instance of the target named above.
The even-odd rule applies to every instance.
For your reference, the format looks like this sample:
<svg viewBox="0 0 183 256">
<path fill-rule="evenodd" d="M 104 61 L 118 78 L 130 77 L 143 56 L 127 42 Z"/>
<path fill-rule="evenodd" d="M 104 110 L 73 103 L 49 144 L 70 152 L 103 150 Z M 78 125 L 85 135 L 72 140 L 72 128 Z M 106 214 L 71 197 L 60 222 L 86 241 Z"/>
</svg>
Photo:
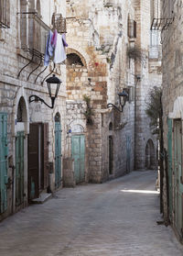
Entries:
<svg viewBox="0 0 183 256">
<path fill-rule="evenodd" d="M 50 28 L 37 13 L 20 14 L 21 48 L 38 57 L 43 57 Z"/>
</svg>

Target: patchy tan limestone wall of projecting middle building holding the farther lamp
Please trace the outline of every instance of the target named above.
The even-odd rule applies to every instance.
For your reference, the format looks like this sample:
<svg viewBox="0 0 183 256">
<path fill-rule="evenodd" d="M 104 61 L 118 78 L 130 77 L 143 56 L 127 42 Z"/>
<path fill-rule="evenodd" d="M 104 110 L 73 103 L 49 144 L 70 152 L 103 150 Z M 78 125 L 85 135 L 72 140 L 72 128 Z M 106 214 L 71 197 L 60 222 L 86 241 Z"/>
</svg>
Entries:
<svg viewBox="0 0 183 256">
<path fill-rule="evenodd" d="M 103 5 L 103 1 L 82 2 L 79 7 L 77 1 L 67 1 L 67 52 L 68 56 L 77 54 L 82 62 L 82 65 L 67 66 L 67 94 L 73 106 L 83 101 L 83 95 L 91 98 L 93 125 L 86 125 L 85 120 L 86 176 L 89 182 L 100 183 L 134 169 L 135 102 L 126 103 L 123 114 L 108 110 L 107 103 L 118 104 L 117 94 L 124 87 L 135 86 L 134 61 L 129 65 L 126 55 L 128 13 L 135 18 L 135 11 L 131 1 L 123 5 L 113 1 L 110 6 Z M 70 102 L 67 107 L 70 108 Z M 78 124 L 82 122 L 85 107 L 72 109 L 72 117 Z M 110 123 L 112 130 L 109 130 Z M 109 137 L 113 137 L 111 173 Z"/>
</svg>

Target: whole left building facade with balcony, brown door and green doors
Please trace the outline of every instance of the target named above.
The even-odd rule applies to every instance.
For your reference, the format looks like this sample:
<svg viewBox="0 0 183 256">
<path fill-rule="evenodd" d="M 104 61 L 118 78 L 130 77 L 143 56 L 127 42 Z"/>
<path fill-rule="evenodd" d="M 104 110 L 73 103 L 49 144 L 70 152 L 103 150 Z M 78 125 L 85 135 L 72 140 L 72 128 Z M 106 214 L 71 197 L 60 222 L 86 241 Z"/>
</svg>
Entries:
<svg viewBox="0 0 183 256">
<path fill-rule="evenodd" d="M 65 17 L 65 1 L 3 0 L 1 5 L 0 220 L 41 192 L 61 187 L 64 150 L 59 150 L 58 160 L 56 144 L 64 149 L 66 143 L 65 64 L 54 69 L 62 81 L 54 108 L 29 102 L 30 95 L 38 95 L 51 105 L 44 78 L 53 63 L 45 70 L 43 57 L 48 31 L 54 27 L 52 15 Z"/>
</svg>

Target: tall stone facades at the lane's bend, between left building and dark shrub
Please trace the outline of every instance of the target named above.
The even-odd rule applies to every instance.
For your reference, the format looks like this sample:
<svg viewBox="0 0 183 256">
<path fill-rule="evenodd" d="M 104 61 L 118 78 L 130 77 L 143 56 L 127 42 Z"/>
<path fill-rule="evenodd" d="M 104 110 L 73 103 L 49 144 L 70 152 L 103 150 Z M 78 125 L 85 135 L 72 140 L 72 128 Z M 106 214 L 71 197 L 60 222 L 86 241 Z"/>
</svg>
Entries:
<svg viewBox="0 0 183 256">
<path fill-rule="evenodd" d="M 68 154 L 77 158 L 80 149 L 85 160 L 78 182 L 156 168 L 156 137 L 145 116 L 148 92 L 161 84 L 160 56 L 150 48 L 150 8 L 143 0 L 67 1 Z M 124 111 L 108 108 L 119 106 L 124 89 Z"/>
</svg>

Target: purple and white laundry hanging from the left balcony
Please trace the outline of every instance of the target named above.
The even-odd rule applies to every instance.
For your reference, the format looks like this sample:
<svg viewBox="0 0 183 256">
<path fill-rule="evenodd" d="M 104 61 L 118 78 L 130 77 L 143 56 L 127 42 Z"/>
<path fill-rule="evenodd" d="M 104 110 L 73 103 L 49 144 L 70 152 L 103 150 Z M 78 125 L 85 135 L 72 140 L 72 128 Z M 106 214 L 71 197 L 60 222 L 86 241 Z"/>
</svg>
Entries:
<svg viewBox="0 0 183 256">
<path fill-rule="evenodd" d="M 49 60 L 54 56 L 53 62 L 59 64 L 66 60 L 65 47 L 68 47 L 65 34 L 59 34 L 57 29 L 48 33 L 44 65 L 48 66 Z"/>
</svg>

